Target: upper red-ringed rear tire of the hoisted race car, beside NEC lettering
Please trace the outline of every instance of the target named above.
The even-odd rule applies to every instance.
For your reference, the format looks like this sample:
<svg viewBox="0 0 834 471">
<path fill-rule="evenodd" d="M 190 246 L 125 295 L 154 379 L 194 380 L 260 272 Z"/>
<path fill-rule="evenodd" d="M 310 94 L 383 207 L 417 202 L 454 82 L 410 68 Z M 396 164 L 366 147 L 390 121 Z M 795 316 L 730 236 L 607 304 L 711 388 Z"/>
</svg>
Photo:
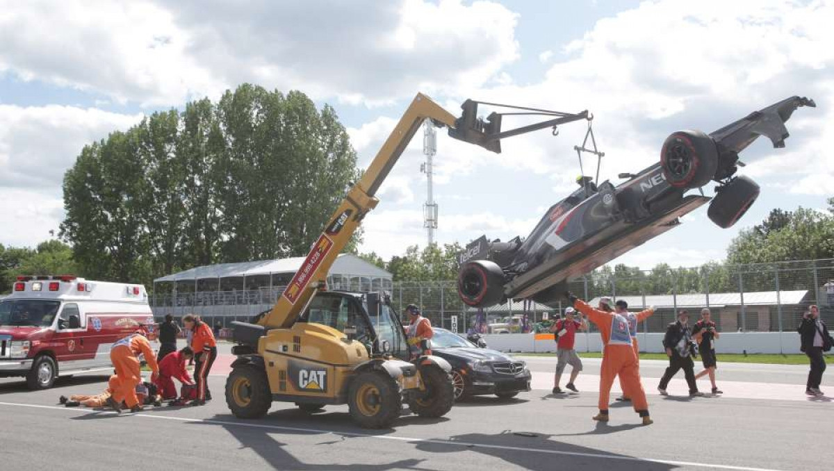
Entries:
<svg viewBox="0 0 834 471">
<path fill-rule="evenodd" d="M 700 188 L 716 176 L 716 143 L 701 131 L 671 133 L 661 148 L 661 167 L 671 186 Z"/>
</svg>

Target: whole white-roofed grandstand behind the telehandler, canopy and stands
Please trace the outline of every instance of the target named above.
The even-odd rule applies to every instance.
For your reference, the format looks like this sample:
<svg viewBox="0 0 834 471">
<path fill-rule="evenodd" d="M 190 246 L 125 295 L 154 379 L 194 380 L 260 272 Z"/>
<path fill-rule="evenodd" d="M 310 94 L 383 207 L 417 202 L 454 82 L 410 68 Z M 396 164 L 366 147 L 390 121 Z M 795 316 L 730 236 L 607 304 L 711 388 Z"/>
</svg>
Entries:
<svg viewBox="0 0 834 471">
<path fill-rule="evenodd" d="M 302 263 L 304 257 L 219 263 L 156 278 L 153 314 L 196 313 L 223 324 L 227 318 L 249 318 L 275 303 Z M 342 253 L 330 268 L 327 285 L 357 292 L 391 291 L 393 277 L 373 263 Z"/>
</svg>

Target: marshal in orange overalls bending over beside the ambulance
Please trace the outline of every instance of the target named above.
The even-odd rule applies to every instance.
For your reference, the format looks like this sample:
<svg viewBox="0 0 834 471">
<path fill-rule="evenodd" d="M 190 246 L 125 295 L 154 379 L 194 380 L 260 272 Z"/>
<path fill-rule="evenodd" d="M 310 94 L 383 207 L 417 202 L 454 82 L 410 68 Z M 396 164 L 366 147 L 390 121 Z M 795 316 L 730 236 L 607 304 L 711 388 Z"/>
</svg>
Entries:
<svg viewBox="0 0 834 471">
<path fill-rule="evenodd" d="M 110 348 L 110 361 L 113 368 L 116 368 L 117 387 L 113 391 L 113 400 L 117 403 L 121 400 L 128 408 L 139 405 L 136 397 L 136 385 L 142 383 L 142 374 L 139 368 L 139 355 L 143 354 L 148 367 L 153 371 L 153 378 L 159 373 L 159 366 L 156 363 L 156 355 L 153 354 L 148 338 L 142 334 L 132 333 L 125 338 L 113 343 Z"/>
</svg>

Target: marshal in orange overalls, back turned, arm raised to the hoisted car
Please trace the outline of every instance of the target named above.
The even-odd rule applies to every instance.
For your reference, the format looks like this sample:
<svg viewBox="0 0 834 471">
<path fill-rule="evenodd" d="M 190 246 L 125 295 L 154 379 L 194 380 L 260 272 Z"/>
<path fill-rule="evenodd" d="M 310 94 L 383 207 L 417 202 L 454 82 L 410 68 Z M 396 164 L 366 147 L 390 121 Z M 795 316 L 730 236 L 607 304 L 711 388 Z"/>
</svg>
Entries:
<svg viewBox="0 0 834 471">
<path fill-rule="evenodd" d="M 646 401 L 646 391 L 640 380 L 637 369 L 637 356 L 631 344 L 628 319 L 621 313 L 610 312 L 610 299 L 600 300 L 599 309 L 591 308 L 585 301 L 576 298 L 573 293 L 565 293 L 570 303 L 580 313 L 585 314 L 590 322 L 600 329 L 602 337 L 602 366 L 600 367 L 600 413 L 594 420 L 608 422 L 608 399 L 614 378 L 620 375 L 624 393 L 631 398 L 634 410 L 643 418 L 643 425 L 653 423 L 649 416 L 649 403 Z"/>
</svg>

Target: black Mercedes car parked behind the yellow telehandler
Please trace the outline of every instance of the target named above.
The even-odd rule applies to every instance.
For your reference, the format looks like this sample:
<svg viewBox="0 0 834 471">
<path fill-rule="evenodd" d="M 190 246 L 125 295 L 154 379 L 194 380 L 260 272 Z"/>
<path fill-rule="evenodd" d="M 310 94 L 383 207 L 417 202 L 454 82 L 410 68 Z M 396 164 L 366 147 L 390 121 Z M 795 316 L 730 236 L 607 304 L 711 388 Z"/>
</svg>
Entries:
<svg viewBox="0 0 834 471">
<path fill-rule="evenodd" d="M 530 391 L 530 370 L 527 364 L 505 353 L 479 348 L 445 328 L 435 328 L 431 351 L 452 365 L 455 399 L 495 394 L 513 398 L 521 391 Z"/>
</svg>

